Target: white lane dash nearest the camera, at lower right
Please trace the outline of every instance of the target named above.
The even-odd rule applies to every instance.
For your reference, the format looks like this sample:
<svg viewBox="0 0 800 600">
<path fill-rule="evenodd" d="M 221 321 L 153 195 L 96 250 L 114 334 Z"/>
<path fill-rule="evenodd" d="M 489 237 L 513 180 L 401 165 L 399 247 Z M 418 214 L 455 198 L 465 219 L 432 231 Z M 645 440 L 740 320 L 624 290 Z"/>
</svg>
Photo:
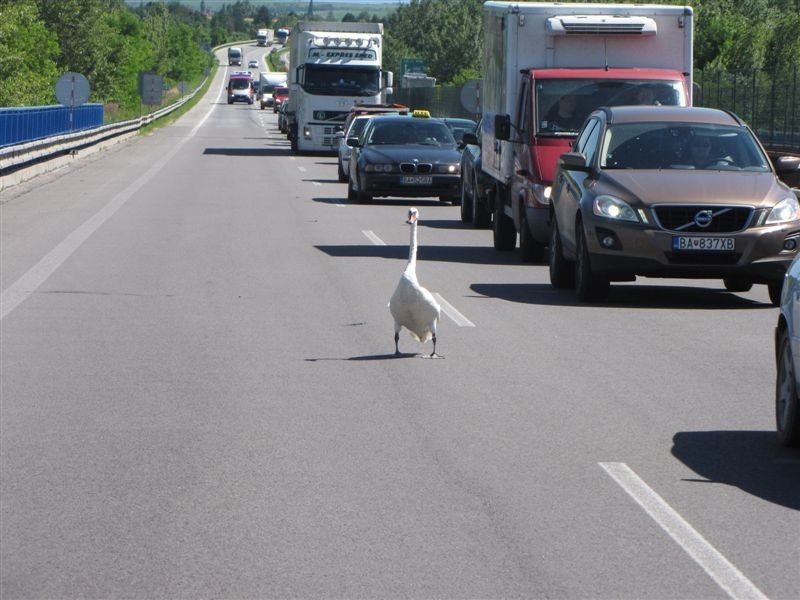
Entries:
<svg viewBox="0 0 800 600">
<path fill-rule="evenodd" d="M 598 464 L 731 598 L 766 600 L 767 597 L 761 590 L 656 494 L 628 465 Z"/>
</svg>

